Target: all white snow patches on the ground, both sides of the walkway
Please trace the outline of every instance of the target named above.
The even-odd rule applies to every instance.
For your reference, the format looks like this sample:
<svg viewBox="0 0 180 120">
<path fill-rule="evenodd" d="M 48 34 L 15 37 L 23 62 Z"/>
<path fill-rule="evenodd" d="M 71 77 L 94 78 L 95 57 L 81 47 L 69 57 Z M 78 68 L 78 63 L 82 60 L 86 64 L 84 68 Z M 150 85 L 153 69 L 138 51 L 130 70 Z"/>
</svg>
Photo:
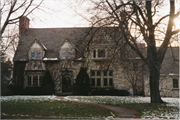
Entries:
<svg viewBox="0 0 180 120">
<path fill-rule="evenodd" d="M 150 97 L 121 97 L 121 96 L 67 96 L 65 97 L 66 100 L 74 100 L 74 101 L 86 101 L 86 102 L 98 102 L 104 104 L 125 104 L 125 103 L 150 103 Z M 150 118 L 150 119 L 179 119 L 179 98 L 162 98 L 167 106 L 175 106 L 176 109 L 166 110 L 162 112 L 162 108 L 159 110 L 144 110 L 143 118 Z M 11 100 L 24 100 L 28 102 L 29 100 L 33 100 L 36 102 L 40 101 L 53 101 L 53 100 L 62 100 L 58 99 L 57 96 L 49 95 L 49 96 L 1 96 L 1 101 L 11 101 Z M 3 114 L 3 113 L 2 113 Z"/>
</svg>

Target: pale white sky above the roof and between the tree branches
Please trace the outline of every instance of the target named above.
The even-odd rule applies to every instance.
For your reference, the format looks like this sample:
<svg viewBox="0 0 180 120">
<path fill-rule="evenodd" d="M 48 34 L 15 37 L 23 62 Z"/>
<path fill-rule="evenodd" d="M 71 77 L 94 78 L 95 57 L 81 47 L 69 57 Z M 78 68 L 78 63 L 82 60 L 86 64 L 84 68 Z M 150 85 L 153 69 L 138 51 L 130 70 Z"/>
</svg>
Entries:
<svg viewBox="0 0 180 120">
<path fill-rule="evenodd" d="M 20 1 L 20 0 L 19 0 Z M 81 3 L 83 0 L 44 0 L 40 7 L 41 10 L 33 11 L 33 14 L 28 15 L 30 19 L 30 28 L 64 28 L 64 27 L 89 27 L 89 22 L 86 19 L 88 14 L 86 8 L 90 6 L 88 3 Z M 87 0 L 85 0 L 87 1 Z M 165 0 L 167 3 L 168 0 Z M 180 10 L 180 0 L 176 1 L 176 8 Z M 35 0 L 39 3 L 40 0 Z M 163 13 L 168 13 L 169 5 L 165 5 Z M 159 13 L 158 17 L 162 15 Z M 3 17 L 2 17 L 3 19 Z M 180 28 L 180 18 L 175 20 L 177 28 Z M 18 24 L 17 24 L 18 25 Z M 14 30 L 13 30 L 14 31 Z"/>
</svg>

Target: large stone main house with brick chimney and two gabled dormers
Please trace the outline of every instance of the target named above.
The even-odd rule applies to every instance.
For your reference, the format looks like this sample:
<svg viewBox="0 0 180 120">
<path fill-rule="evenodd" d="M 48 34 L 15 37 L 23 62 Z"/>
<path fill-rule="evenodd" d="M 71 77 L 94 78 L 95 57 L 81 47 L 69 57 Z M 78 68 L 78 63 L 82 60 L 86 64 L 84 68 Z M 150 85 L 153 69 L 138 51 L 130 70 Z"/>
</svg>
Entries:
<svg viewBox="0 0 180 120">
<path fill-rule="evenodd" d="M 122 61 L 119 61 L 128 57 L 123 51 L 130 49 L 126 48 L 123 39 L 119 39 L 118 28 L 29 28 L 29 21 L 27 17 L 20 18 L 19 45 L 13 59 L 15 86 L 24 89 L 40 87 L 48 70 L 54 80 L 55 94 L 71 94 L 80 67 L 88 66 L 92 89 L 132 92 L 132 84 L 127 81 L 120 64 Z M 116 49 L 118 45 L 122 48 Z M 144 44 L 139 46 L 142 51 L 146 50 Z M 141 60 L 138 56 L 132 50 L 128 53 L 133 55 L 129 59 L 136 63 L 127 68 L 139 67 Z M 135 89 L 137 93 L 143 93 L 143 74 L 137 78 Z"/>
</svg>

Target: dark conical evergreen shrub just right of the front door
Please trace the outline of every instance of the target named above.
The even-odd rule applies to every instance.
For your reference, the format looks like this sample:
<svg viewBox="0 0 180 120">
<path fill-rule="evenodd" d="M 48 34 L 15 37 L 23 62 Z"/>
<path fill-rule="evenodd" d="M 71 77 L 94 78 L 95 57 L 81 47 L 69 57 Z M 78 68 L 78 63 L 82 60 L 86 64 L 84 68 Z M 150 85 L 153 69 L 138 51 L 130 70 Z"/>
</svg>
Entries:
<svg viewBox="0 0 180 120">
<path fill-rule="evenodd" d="M 76 95 L 88 95 L 90 92 L 90 78 L 87 73 L 87 68 L 81 67 L 76 82 L 73 87 L 73 93 Z"/>
</svg>

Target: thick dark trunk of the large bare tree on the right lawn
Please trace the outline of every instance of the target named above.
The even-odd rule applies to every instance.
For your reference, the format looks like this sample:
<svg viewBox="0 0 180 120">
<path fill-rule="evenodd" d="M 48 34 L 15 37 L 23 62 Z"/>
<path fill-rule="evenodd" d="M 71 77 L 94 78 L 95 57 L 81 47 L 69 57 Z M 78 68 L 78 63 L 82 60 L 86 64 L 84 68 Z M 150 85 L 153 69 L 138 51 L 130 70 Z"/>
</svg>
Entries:
<svg viewBox="0 0 180 120">
<path fill-rule="evenodd" d="M 160 69 L 158 63 L 149 65 L 151 103 L 164 103 L 159 91 Z"/>
</svg>

